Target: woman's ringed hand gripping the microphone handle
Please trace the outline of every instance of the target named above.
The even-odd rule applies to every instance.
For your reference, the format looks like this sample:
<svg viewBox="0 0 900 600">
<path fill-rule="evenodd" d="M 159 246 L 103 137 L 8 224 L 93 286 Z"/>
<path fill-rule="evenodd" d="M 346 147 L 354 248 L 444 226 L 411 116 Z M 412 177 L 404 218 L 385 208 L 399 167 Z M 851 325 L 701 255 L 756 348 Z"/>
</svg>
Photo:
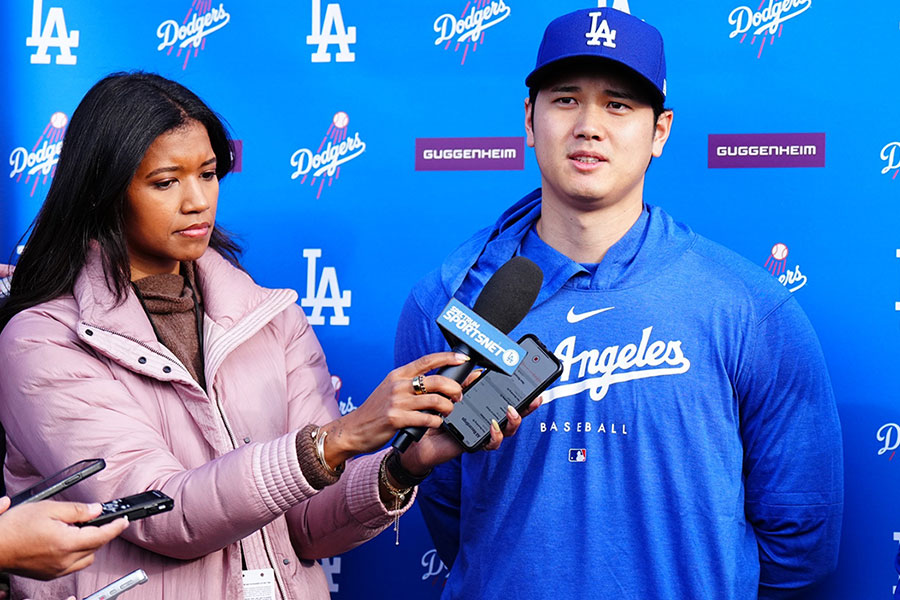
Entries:
<svg viewBox="0 0 900 600">
<path fill-rule="evenodd" d="M 377 450 L 404 427 L 439 428 L 441 415 L 450 414 L 453 403 L 462 398 L 462 386 L 442 375 L 428 375 L 424 377 L 428 393 L 416 394 L 413 379 L 433 369 L 461 365 L 467 360 L 469 357 L 465 354 L 437 352 L 388 373 L 362 406 L 322 427 L 328 434 L 326 462 L 334 467 L 357 454 Z M 433 411 L 433 414 L 422 411 Z"/>
</svg>

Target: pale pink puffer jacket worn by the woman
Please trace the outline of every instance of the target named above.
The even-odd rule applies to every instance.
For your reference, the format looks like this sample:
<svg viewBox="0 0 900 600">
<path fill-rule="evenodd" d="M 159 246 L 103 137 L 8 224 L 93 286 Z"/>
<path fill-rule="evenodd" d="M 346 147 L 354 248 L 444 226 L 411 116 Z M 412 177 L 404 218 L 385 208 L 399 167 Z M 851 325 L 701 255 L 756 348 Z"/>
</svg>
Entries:
<svg viewBox="0 0 900 600">
<path fill-rule="evenodd" d="M 298 467 L 294 432 L 339 412 L 297 294 L 257 286 L 213 251 L 197 266 L 208 393 L 157 342 L 134 294 L 115 305 L 96 248 L 72 296 L 23 311 L 0 334 L 11 492 L 102 457 L 106 469 L 64 498 L 159 489 L 175 500 L 84 571 L 49 583 L 14 577 L 14 597 L 83 598 L 142 568 L 149 581 L 130 600 L 240 599 L 243 547 L 247 568 L 275 569 L 285 598 L 325 599 L 315 559 L 391 522 L 378 496 L 382 454 L 352 461 L 318 493 Z"/>
</svg>

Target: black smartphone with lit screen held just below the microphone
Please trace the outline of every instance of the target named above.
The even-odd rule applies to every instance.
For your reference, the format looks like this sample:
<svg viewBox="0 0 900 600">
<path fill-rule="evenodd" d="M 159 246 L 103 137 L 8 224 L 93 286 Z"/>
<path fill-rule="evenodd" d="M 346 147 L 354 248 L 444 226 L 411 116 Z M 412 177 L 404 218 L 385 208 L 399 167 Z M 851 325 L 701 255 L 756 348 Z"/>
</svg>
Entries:
<svg viewBox="0 0 900 600">
<path fill-rule="evenodd" d="M 463 390 L 462 400 L 444 417 L 444 428 L 469 452 L 491 437 L 491 419 L 506 425 L 506 407 L 523 410 L 562 373 L 562 364 L 532 334 L 519 340 L 526 355 L 512 375 L 486 370 Z"/>
</svg>

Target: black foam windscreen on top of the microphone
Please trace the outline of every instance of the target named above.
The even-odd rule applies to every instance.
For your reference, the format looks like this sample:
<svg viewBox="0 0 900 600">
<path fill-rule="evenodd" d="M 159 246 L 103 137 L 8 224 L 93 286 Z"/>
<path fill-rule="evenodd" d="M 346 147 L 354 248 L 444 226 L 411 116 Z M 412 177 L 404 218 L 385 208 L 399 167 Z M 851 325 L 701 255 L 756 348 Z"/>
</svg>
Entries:
<svg viewBox="0 0 900 600">
<path fill-rule="evenodd" d="M 472 310 L 509 333 L 531 310 L 543 282 L 544 272 L 539 266 L 524 256 L 515 256 L 484 284 Z"/>
</svg>

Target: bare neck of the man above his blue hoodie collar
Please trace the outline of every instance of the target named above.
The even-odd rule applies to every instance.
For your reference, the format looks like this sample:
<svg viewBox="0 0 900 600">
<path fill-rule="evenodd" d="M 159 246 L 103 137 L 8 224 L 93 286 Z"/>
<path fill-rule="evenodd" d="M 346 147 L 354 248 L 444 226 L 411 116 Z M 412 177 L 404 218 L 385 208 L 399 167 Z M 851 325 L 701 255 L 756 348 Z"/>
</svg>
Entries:
<svg viewBox="0 0 900 600">
<path fill-rule="evenodd" d="M 583 212 L 544 199 L 537 233 L 544 243 L 575 262 L 599 263 L 637 222 L 642 210 L 640 199 Z"/>
</svg>

